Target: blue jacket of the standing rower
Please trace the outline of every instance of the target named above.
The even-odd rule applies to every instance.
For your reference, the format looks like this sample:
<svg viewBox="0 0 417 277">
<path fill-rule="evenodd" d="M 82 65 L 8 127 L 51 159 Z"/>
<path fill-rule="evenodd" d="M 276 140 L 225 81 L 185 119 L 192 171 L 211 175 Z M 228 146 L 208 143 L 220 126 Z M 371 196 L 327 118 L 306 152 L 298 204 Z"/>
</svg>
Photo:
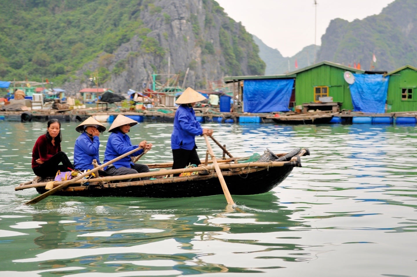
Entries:
<svg viewBox="0 0 417 277">
<path fill-rule="evenodd" d="M 174 117 L 171 149 L 192 150 L 196 146 L 195 136 L 201 136 L 202 133 L 203 128 L 196 120 L 193 108 L 186 105 L 179 106 Z"/>
</svg>

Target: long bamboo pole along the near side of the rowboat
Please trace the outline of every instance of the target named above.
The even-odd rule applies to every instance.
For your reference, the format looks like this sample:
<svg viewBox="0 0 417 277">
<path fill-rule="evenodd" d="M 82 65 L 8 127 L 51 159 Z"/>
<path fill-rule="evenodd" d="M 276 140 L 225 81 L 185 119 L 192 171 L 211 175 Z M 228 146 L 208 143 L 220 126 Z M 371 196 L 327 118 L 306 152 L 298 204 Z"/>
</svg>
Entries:
<svg viewBox="0 0 417 277">
<path fill-rule="evenodd" d="M 242 163 L 242 164 L 219 164 L 220 169 L 233 169 L 233 168 L 246 168 L 246 167 L 279 167 L 279 166 L 295 166 L 295 164 L 291 161 L 271 161 L 271 162 L 250 162 L 250 163 Z M 118 175 L 118 176 L 106 176 L 106 177 L 98 177 L 90 179 L 91 182 L 99 182 L 99 181 L 117 181 L 117 180 L 126 180 L 126 179 L 133 179 L 133 178 L 142 178 L 142 177 L 152 177 L 152 176 L 162 176 L 162 175 L 170 175 L 170 174 L 181 174 L 185 172 L 194 172 L 194 171 L 203 171 L 203 170 L 213 170 L 215 169 L 214 164 L 208 166 L 197 166 L 191 168 L 184 168 L 184 169 L 169 169 L 169 170 L 159 170 L 159 171 L 150 171 L 150 172 L 143 172 L 143 173 L 136 173 L 136 174 L 128 174 L 128 175 Z M 89 171 L 90 172 L 90 171 Z M 176 177 L 174 177 L 176 178 Z M 75 181 L 74 184 L 82 184 L 85 180 L 78 180 Z M 54 185 L 61 185 L 65 183 L 65 181 L 58 181 Z M 22 189 L 29 189 L 35 187 L 46 186 L 48 182 L 36 183 L 36 184 L 29 184 L 29 185 L 19 185 L 15 187 L 15 190 L 22 190 Z"/>
</svg>

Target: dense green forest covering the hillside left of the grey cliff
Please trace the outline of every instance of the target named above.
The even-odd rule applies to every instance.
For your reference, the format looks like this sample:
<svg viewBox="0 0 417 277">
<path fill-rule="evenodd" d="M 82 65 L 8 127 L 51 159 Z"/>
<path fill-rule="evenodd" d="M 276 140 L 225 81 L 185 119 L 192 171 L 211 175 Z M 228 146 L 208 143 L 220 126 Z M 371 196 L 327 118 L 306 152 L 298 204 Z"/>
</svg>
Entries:
<svg viewBox="0 0 417 277">
<path fill-rule="evenodd" d="M 151 30 L 141 28 L 140 8 L 131 0 L 1 0 L 7 12 L 0 19 L 0 80 L 68 79 L 99 53 L 146 36 Z M 155 45 L 152 50 L 161 54 Z"/>
</svg>

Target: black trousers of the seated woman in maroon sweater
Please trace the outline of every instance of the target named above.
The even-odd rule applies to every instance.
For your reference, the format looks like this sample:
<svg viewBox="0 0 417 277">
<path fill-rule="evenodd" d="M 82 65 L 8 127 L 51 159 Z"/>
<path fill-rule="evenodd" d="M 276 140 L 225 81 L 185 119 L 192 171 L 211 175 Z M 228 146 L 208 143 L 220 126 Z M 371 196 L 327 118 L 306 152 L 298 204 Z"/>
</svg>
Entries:
<svg viewBox="0 0 417 277">
<path fill-rule="evenodd" d="M 34 167 L 33 173 L 35 173 L 36 176 L 41 177 L 55 177 L 58 170 L 64 172 L 71 171 L 72 169 L 74 169 L 73 164 L 71 164 L 67 155 L 63 151 L 60 151 L 53 155 L 48 161 Z"/>
</svg>

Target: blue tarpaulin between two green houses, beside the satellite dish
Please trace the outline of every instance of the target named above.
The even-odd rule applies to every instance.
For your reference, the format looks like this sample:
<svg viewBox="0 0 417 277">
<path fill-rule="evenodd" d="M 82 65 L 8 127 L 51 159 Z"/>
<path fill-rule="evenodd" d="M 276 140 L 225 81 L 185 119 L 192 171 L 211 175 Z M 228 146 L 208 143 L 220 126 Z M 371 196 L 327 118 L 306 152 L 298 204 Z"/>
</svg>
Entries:
<svg viewBox="0 0 417 277">
<path fill-rule="evenodd" d="M 382 74 L 353 74 L 355 82 L 349 85 L 353 111 L 384 113 L 389 76 Z"/>
</svg>

